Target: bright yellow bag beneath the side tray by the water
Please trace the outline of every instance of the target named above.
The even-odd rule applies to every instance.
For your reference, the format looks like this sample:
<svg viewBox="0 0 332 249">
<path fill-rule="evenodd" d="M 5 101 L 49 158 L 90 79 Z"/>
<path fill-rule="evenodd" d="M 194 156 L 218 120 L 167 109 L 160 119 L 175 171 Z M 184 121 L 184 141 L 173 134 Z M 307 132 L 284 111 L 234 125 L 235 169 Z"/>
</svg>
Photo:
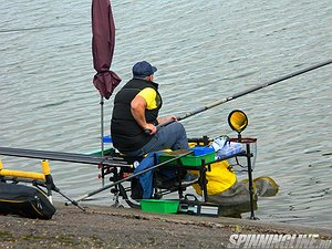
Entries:
<svg viewBox="0 0 332 249">
<path fill-rule="evenodd" d="M 217 162 L 210 165 L 211 170 L 206 172 L 207 194 L 217 195 L 230 188 L 237 180 L 236 174 L 230 169 L 227 160 Z M 197 170 L 190 170 L 190 174 L 199 175 Z M 193 185 L 196 193 L 201 196 L 201 189 L 198 184 Z"/>
</svg>

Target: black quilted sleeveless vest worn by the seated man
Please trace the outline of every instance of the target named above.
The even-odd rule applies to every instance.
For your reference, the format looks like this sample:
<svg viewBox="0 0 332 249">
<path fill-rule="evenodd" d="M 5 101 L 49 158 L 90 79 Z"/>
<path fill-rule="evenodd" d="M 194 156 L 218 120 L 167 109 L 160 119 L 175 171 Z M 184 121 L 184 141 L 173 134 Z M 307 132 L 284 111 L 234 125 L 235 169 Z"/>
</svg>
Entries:
<svg viewBox="0 0 332 249">
<path fill-rule="evenodd" d="M 133 79 L 125 84 L 115 95 L 114 107 L 111 121 L 111 135 L 113 145 L 122 153 L 133 152 L 147 144 L 152 136 L 146 135 L 144 129 L 137 124 L 131 112 L 131 103 L 134 97 L 146 87 L 153 87 L 157 92 L 157 107 L 145 110 L 147 123 L 157 124 L 157 117 L 163 101 L 158 92 L 158 84 L 141 79 Z"/>
</svg>

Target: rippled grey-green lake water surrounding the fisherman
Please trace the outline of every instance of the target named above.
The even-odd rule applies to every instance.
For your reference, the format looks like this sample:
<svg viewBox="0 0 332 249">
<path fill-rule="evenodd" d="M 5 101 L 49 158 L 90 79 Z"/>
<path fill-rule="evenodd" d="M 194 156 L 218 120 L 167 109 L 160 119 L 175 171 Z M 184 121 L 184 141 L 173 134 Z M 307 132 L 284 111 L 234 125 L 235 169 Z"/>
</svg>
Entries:
<svg viewBox="0 0 332 249">
<path fill-rule="evenodd" d="M 0 145 L 97 151 L 91 2 L 0 3 Z M 125 0 L 112 6 L 112 70 L 123 85 L 135 62 L 156 65 L 162 115 L 180 115 L 332 58 L 330 0 Z M 259 200 L 261 220 L 332 225 L 331 79 L 330 64 L 181 122 L 189 137 L 236 136 L 227 116 L 235 108 L 247 113 L 242 135 L 258 138 L 253 175 L 280 185 L 278 196 Z M 104 105 L 105 134 L 113 97 Z M 41 170 L 37 159 L 1 159 L 6 168 Z M 51 162 L 51 168 L 58 187 L 72 198 L 101 187 L 95 166 Z M 95 198 L 112 203 L 107 191 Z"/>
</svg>

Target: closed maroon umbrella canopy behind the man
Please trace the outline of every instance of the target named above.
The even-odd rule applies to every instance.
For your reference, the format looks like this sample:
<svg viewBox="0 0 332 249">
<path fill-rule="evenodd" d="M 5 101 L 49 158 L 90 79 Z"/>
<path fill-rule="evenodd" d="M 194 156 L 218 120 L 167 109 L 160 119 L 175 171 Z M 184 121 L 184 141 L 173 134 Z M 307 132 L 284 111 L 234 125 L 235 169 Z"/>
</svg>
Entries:
<svg viewBox="0 0 332 249">
<path fill-rule="evenodd" d="M 116 73 L 110 71 L 114 45 L 115 25 L 110 0 L 92 0 L 92 54 L 96 74 L 94 86 L 106 100 L 121 82 Z"/>
</svg>

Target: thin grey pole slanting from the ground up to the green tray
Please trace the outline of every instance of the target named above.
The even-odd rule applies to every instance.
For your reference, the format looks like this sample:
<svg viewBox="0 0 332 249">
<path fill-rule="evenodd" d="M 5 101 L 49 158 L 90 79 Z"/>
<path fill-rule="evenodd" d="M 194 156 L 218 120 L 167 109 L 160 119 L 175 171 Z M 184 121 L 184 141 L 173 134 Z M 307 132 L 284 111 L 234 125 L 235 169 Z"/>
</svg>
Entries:
<svg viewBox="0 0 332 249">
<path fill-rule="evenodd" d="M 98 189 L 96 189 L 96 190 L 90 191 L 90 193 L 87 193 L 87 194 L 85 194 L 85 195 L 79 197 L 79 198 L 77 198 L 76 200 L 74 200 L 74 201 L 77 203 L 77 201 L 81 201 L 81 200 L 83 200 L 83 199 L 86 199 L 86 198 L 90 197 L 90 196 L 93 196 L 93 195 L 98 194 L 98 193 L 101 193 L 101 191 L 103 191 L 103 190 L 106 190 L 106 189 L 108 189 L 108 188 L 112 188 L 112 187 L 114 187 L 114 186 L 116 186 L 116 185 L 120 185 L 120 184 L 122 184 L 122 183 L 124 183 L 124 181 L 126 181 L 126 180 L 129 180 L 129 179 L 132 179 L 132 178 L 134 178 L 134 177 L 141 176 L 141 175 L 144 174 L 144 173 L 154 170 L 154 169 L 156 169 L 156 168 L 158 168 L 158 167 L 162 167 L 162 166 L 164 166 L 164 165 L 166 165 L 166 164 L 169 164 L 169 163 L 172 163 L 172 162 L 174 162 L 174 160 L 177 160 L 177 159 L 179 159 L 179 158 L 181 158 L 181 157 L 184 157 L 184 156 L 187 156 L 187 155 L 189 155 L 189 154 L 191 154 L 191 153 L 193 153 L 193 151 L 188 151 L 188 152 L 186 152 L 186 153 L 184 153 L 184 154 L 181 154 L 181 155 L 179 155 L 179 156 L 177 156 L 177 157 L 174 157 L 174 158 L 170 158 L 170 159 L 168 159 L 168 160 L 165 160 L 165 162 L 163 162 L 163 163 L 160 163 L 160 164 L 157 164 L 157 165 L 155 165 L 155 166 L 153 166 L 153 167 L 143 169 L 142 172 L 138 172 L 138 173 L 136 173 L 136 174 L 133 174 L 133 175 L 131 175 L 131 176 L 128 176 L 128 177 L 126 177 L 126 178 L 120 179 L 120 180 L 117 180 L 117 181 L 115 181 L 115 183 L 113 183 L 113 184 L 108 184 L 108 185 L 106 185 L 106 186 L 104 186 L 104 187 L 102 187 L 102 188 L 98 188 Z M 65 205 L 69 205 L 69 204 L 65 204 Z"/>
</svg>

